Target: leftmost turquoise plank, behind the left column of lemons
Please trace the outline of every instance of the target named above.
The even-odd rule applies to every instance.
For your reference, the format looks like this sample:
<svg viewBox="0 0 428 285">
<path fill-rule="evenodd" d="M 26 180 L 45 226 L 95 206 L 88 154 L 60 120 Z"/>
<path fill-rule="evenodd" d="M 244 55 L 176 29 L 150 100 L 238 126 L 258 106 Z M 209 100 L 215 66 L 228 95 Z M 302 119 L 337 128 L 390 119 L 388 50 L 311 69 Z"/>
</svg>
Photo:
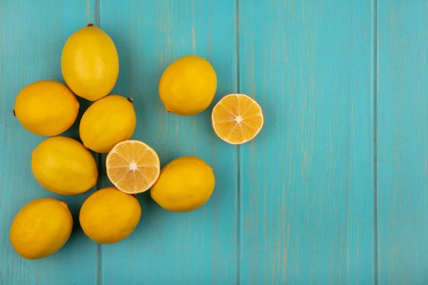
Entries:
<svg viewBox="0 0 428 285">
<path fill-rule="evenodd" d="M 1 1 L 0 3 L 0 284 L 96 284 L 97 245 L 81 232 L 79 208 L 87 193 L 55 195 L 31 174 L 31 150 L 44 139 L 12 116 L 14 100 L 27 84 L 41 79 L 63 81 L 61 53 L 68 36 L 90 21 L 88 1 Z M 84 102 L 81 102 L 85 106 Z M 66 135 L 77 137 L 77 126 Z M 25 260 L 14 252 L 9 229 L 14 215 L 36 198 L 68 203 L 74 217 L 72 236 L 57 254 Z"/>
</svg>

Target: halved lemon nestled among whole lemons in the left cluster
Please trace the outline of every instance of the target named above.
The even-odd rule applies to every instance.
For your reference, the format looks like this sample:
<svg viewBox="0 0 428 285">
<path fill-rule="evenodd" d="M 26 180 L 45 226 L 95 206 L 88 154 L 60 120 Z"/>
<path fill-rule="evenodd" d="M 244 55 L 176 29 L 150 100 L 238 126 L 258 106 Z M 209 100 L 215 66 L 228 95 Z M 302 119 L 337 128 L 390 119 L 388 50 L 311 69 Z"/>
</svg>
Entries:
<svg viewBox="0 0 428 285">
<path fill-rule="evenodd" d="M 136 139 L 120 141 L 113 146 L 105 159 L 105 167 L 111 183 L 130 194 L 150 189 L 161 172 L 157 152 Z"/>
</svg>

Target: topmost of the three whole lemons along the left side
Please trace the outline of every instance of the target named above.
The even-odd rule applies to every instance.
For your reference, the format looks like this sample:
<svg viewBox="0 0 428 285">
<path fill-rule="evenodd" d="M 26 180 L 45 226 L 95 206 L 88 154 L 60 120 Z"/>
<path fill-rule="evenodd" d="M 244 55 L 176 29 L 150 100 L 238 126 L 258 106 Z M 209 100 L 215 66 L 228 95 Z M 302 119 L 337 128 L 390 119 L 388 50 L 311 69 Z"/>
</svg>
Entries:
<svg viewBox="0 0 428 285">
<path fill-rule="evenodd" d="M 58 81 L 31 83 L 18 93 L 14 115 L 27 131 L 52 136 L 72 126 L 79 112 L 79 101 L 71 90 Z"/>
</svg>

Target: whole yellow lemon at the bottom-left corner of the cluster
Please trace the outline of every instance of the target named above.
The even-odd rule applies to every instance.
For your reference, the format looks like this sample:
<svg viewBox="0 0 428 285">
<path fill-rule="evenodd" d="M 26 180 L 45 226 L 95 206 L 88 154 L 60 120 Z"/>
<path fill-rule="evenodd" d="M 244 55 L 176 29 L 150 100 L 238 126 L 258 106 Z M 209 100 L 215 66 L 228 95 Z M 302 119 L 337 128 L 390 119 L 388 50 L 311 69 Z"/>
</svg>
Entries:
<svg viewBox="0 0 428 285">
<path fill-rule="evenodd" d="M 72 215 L 65 202 L 41 198 L 16 214 L 10 242 L 23 258 L 39 259 L 55 254 L 70 238 Z"/>
</svg>

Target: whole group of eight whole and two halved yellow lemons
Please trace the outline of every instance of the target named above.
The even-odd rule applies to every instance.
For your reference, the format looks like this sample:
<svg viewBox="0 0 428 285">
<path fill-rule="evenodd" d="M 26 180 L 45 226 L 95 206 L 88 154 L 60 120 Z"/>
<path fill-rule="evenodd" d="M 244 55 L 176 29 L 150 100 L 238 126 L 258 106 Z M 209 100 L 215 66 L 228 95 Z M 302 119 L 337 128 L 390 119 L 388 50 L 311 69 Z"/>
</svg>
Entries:
<svg viewBox="0 0 428 285">
<path fill-rule="evenodd" d="M 106 153 L 112 187 L 98 189 L 81 205 L 79 223 L 97 243 L 116 243 L 137 226 L 142 208 L 135 197 L 150 196 L 168 211 L 192 211 L 211 197 L 213 168 L 198 157 L 178 157 L 162 169 L 157 152 L 131 139 L 137 124 L 133 99 L 109 94 L 119 74 L 119 57 L 111 38 L 89 24 L 68 38 L 61 59 L 64 83 L 36 81 L 18 93 L 14 116 L 27 131 L 46 137 L 31 153 L 31 171 L 45 189 L 77 195 L 98 180 L 94 153 Z M 159 97 L 165 109 L 183 116 L 204 111 L 217 90 L 211 64 L 189 55 L 162 74 Z M 79 139 L 62 135 L 75 124 L 77 97 L 91 101 L 79 122 Z M 228 94 L 213 107 L 213 131 L 230 144 L 254 138 L 263 126 L 260 105 L 245 94 Z M 40 198 L 18 211 L 10 228 L 12 246 L 24 258 L 57 252 L 72 232 L 72 215 L 64 201 Z"/>
</svg>

